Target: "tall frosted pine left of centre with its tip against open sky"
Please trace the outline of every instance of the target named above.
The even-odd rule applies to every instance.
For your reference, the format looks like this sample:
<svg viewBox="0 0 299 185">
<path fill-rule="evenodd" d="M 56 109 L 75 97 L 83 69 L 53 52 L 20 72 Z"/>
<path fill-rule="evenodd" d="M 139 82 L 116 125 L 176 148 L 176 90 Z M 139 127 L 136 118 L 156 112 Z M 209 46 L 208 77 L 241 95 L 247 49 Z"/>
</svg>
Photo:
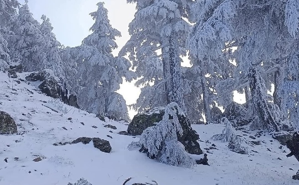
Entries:
<svg viewBox="0 0 299 185">
<path fill-rule="evenodd" d="M 112 28 L 108 19 L 108 10 L 104 2 L 90 13 L 95 23 L 79 47 L 79 73 L 82 89 L 78 94 L 78 103 L 90 112 L 116 119 L 129 120 L 126 102 L 120 89 L 123 77 L 131 81 L 134 73 L 129 71 L 131 64 L 121 57 L 114 57 L 112 50 L 117 48 L 116 37 L 121 33 Z"/>
</svg>

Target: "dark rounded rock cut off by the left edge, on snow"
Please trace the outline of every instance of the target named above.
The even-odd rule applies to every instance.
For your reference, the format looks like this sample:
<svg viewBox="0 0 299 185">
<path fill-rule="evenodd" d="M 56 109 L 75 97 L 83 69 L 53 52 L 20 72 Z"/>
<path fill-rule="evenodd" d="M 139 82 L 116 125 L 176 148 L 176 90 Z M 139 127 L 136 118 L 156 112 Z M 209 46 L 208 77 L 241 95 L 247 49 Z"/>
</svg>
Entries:
<svg viewBox="0 0 299 185">
<path fill-rule="evenodd" d="M 0 134 L 17 133 L 17 127 L 13 118 L 6 112 L 0 111 Z"/>
</svg>

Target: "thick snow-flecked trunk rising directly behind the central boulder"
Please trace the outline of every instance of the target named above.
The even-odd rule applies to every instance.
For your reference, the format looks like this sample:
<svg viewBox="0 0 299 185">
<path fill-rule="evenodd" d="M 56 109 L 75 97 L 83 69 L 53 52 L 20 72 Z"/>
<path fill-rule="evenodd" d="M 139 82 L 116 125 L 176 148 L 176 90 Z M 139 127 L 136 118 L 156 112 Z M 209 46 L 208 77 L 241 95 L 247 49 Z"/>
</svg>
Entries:
<svg viewBox="0 0 299 185">
<path fill-rule="evenodd" d="M 183 98 L 182 79 L 181 79 L 181 66 L 179 60 L 178 38 L 174 31 L 172 31 L 169 38 L 169 72 L 170 90 L 169 101 L 176 102 L 180 108 L 186 113 L 186 106 Z"/>
</svg>

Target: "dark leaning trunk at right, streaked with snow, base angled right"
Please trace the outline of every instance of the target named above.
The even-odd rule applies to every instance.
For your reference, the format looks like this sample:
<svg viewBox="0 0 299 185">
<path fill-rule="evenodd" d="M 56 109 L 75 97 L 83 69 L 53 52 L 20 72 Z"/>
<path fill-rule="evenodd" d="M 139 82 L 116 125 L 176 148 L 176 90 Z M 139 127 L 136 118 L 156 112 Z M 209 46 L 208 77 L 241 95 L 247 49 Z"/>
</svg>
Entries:
<svg viewBox="0 0 299 185">
<path fill-rule="evenodd" d="M 263 88 L 264 82 L 262 81 L 261 76 L 254 68 L 251 67 L 249 69 L 248 78 L 253 104 L 260 121 L 263 123 L 264 127 L 268 129 L 269 132 L 278 132 L 279 127 L 269 110 L 265 96 L 266 88 Z"/>
</svg>

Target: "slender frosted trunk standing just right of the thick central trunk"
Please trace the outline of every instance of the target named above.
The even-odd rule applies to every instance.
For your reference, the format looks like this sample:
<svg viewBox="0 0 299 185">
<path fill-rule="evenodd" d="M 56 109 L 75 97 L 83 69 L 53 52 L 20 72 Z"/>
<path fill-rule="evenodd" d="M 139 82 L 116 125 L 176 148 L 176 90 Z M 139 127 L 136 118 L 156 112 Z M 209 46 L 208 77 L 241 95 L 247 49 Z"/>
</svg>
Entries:
<svg viewBox="0 0 299 185">
<path fill-rule="evenodd" d="M 205 115 L 206 123 L 210 123 L 212 120 L 212 114 L 211 114 L 208 90 L 207 90 L 206 79 L 204 74 L 201 74 L 200 81 L 201 81 L 201 89 L 202 89 L 204 115 Z"/>
</svg>

